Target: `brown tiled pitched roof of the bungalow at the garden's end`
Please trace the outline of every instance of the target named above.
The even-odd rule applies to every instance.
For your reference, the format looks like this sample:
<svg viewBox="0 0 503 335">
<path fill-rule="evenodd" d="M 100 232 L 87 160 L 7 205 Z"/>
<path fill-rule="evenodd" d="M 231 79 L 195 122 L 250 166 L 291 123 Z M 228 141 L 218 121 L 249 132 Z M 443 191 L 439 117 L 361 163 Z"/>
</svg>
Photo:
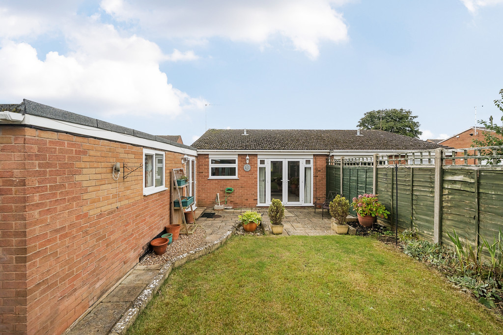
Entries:
<svg viewBox="0 0 503 335">
<path fill-rule="evenodd" d="M 198 150 L 432 150 L 441 145 L 380 130 L 209 129 Z"/>
</svg>

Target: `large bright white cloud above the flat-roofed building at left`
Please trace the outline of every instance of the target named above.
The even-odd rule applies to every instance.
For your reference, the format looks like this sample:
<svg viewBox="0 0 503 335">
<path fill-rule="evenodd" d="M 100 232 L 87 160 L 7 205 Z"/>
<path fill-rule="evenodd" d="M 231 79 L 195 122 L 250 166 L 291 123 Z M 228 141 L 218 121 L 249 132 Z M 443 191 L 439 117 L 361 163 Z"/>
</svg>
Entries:
<svg viewBox="0 0 503 335">
<path fill-rule="evenodd" d="M 78 110 L 99 114 L 178 115 L 204 108 L 202 98 L 174 88 L 159 70 L 163 60 L 195 59 L 193 52 L 164 55 L 135 35 L 121 37 L 113 26 L 90 20 L 66 33 L 66 55 L 49 52 L 39 59 L 28 43 L 4 40 L 0 48 L 0 99 L 71 101 Z"/>
</svg>

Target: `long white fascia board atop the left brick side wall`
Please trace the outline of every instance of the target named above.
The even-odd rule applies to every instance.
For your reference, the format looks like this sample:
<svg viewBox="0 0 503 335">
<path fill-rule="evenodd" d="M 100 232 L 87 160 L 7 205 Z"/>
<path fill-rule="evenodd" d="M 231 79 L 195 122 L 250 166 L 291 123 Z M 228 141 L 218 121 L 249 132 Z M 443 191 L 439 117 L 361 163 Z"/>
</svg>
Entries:
<svg viewBox="0 0 503 335">
<path fill-rule="evenodd" d="M 121 134 L 112 132 L 109 130 L 77 125 L 70 122 L 58 121 L 48 118 L 37 117 L 34 115 L 26 114 L 24 120 L 21 122 L 22 125 L 40 127 L 44 129 L 50 129 L 59 132 L 71 133 L 75 135 L 83 135 L 88 137 L 94 137 L 104 140 L 110 140 L 115 142 L 128 143 L 136 145 L 139 147 L 155 148 L 164 151 L 176 152 L 180 154 L 187 154 L 191 156 L 197 156 L 196 150 L 191 150 L 187 148 L 177 147 L 171 144 L 157 142 L 153 140 L 143 139 L 141 137 L 131 136 L 127 134 Z"/>
</svg>

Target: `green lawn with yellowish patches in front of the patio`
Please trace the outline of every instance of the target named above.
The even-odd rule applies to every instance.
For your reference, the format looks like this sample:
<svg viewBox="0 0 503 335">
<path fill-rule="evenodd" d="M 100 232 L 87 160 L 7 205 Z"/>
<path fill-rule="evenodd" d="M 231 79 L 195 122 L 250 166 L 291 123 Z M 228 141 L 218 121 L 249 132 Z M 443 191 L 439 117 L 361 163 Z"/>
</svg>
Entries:
<svg viewBox="0 0 503 335">
<path fill-rule="evenodd" d="M 234 237 L 172 272 L 130 334 L 503 333 L 440 274 L 355 236 Z"/>
</svg>

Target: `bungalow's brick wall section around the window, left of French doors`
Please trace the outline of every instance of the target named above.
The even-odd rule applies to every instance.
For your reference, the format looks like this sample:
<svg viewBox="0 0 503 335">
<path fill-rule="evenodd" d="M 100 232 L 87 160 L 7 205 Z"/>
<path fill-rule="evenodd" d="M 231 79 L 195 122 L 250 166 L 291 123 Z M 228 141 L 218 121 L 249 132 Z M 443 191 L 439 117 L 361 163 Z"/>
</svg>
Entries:
<svg viewBox="0 0 503 335">
<path fill-rule="evenodd" d="M 257 155 L 248 155 L 251 170 L 246 172 L 246 155 L 237 156 L 237 177 L 239 179 L 208 179 L 210 175 L 208 155 L 197 156 L 197 205 L 209 207 L 215 205 L 217 192 L 220 193 L 220 204 L 225 201 L 225 188 L 232 187 L 226 206 L 257 207 Z"/>
</svg>

